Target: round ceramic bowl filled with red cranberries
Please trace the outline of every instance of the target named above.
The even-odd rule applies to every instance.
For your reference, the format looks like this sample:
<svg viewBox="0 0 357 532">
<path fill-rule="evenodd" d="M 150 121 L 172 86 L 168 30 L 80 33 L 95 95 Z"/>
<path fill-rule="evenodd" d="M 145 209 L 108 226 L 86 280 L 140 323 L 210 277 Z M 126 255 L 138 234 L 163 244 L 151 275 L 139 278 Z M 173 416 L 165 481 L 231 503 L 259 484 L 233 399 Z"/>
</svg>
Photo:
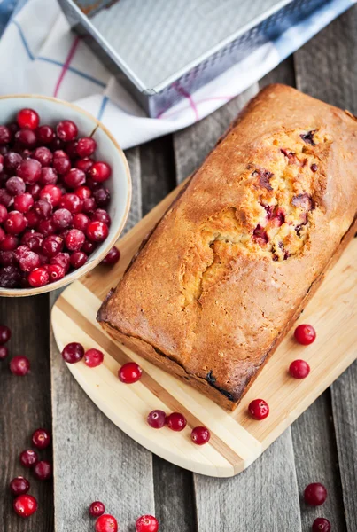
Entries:
<svg viewBox="0 0 357 532">
<path fill-rule="evenodd" d="M 65 286 L 113 248 L 128 162 L 100 121 L 42 96 L 0 98 L 0 295 Z"/>
</svg>

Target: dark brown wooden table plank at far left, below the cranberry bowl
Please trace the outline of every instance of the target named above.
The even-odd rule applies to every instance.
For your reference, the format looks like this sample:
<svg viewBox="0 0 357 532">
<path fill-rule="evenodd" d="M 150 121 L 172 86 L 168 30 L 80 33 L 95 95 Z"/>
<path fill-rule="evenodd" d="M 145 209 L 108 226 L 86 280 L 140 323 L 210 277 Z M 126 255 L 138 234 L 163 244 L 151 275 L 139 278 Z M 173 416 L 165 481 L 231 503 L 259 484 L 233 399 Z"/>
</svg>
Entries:
<svg viewBox="0 0 357 532">
<path fill-rule="evenodd" d="M 8 344 L 10 355 L 0 362 L 0 486 L 2 506 L 0 529 L 6 532 L 53 531 L 52 482 L 35 481 L 19 464 L 19 453 L 32 447 L 31 434 L 40 426 L 51 429 L 50 357 L 48 295 L 0 299 L 0 324 L 12 329 Z M 31 372 L 16 377 L 9 370 L 12 356 L 26 355 Z M 41 458 L 51 459 L 51 449 Z M 12 510 L 13 497 L 8 485 L 13 477 L 25 476 L 31 484 L 29 493 L 38 500 L 38 511 L 28 520 L 20 519 Z"/>
</svg>

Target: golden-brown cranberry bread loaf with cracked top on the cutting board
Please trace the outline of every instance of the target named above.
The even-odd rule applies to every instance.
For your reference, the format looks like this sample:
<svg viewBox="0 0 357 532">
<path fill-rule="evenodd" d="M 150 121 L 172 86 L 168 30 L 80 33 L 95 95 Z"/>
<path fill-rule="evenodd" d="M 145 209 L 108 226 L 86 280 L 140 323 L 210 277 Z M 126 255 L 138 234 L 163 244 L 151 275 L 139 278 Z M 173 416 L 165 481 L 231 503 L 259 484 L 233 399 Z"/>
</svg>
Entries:
<svg viewBox="0 0 357 532">
<path fill-rule="evenodd" d="M 261 90 L 98 312 L 128 348 L 234 409 L 353 236 L 357 121 Z"/>
</svg>

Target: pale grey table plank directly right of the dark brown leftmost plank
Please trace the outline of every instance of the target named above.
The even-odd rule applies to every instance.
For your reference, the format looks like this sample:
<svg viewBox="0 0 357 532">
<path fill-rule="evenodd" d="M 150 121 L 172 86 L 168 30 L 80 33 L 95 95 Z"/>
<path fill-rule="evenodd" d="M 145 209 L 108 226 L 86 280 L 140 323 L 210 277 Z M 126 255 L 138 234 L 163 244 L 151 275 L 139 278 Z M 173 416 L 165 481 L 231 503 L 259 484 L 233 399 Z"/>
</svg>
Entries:
<svg viewBox="0 0 357 532">
<path fill-rule="evenodd" d="M 139 150 L 129 150 L 127 157 L 133 179 L 130 226 L 141 216 Z M 132 529 L 139 515 L 154 513 L 151 453 L 91 403 L 66 370 L 53 337 L 51 382 L 56 532 L 92 529 L 93 500 L 105 503 L 121 530 Z"/>
</svg>

